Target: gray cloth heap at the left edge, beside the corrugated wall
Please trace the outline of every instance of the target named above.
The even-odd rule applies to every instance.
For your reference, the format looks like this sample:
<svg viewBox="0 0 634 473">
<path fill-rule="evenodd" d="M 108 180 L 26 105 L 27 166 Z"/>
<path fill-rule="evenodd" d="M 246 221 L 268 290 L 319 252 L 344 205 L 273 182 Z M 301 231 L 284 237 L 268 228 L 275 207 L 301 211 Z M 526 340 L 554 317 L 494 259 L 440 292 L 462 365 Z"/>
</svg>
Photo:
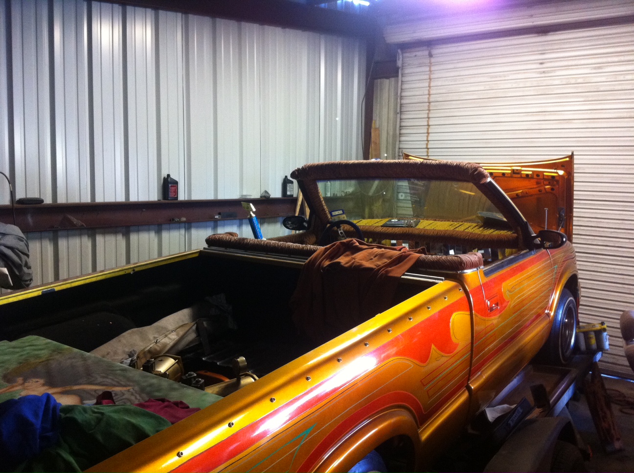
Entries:
<svg viewBox="0 0 634 473">
<path fill-rule="evenodd" d="M 24 289 L 33 282 L 29 262 L 29 241 L 15 225 L 0 223 L 0 268 L 6 268 L 11 285 L 6 289 Z"/>
</svg>

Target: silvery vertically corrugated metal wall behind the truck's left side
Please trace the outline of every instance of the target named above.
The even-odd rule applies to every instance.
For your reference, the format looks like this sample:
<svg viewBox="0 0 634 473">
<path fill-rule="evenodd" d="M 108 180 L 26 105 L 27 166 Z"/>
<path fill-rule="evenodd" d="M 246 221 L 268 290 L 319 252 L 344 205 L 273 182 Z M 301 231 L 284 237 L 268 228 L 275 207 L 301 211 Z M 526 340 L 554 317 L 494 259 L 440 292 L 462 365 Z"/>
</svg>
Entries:
<svg viewBox="0 0 634 473">
<path fill-rule="evenodd" d="M 0 170 L 18 197 L 154 200 L 167 173 L 181 199 L 276 197 L 299 165 L 361 158 L 362 41 L 84 0 L 1 2 L 0 37 Z M 39 284 L 230 230 L 250 235 L 236 221 L 27 236 Z"/>
</svg>

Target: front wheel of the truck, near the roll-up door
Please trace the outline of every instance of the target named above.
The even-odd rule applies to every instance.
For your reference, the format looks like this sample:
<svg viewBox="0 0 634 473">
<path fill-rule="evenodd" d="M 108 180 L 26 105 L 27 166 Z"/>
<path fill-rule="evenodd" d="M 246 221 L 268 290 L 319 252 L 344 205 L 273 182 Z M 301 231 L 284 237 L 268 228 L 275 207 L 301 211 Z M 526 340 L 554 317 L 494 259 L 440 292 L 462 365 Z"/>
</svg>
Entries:
<svg viewBox="0 0 634 473">
<path fill-rule="evenodd" d="M 541 359 L 552 365 L 566 365 L 572 360 L 577 320 L 577 301 L 573 294 L 564 288 L 559 296 L 550 335 L 540 351 Z"/>
</svg>

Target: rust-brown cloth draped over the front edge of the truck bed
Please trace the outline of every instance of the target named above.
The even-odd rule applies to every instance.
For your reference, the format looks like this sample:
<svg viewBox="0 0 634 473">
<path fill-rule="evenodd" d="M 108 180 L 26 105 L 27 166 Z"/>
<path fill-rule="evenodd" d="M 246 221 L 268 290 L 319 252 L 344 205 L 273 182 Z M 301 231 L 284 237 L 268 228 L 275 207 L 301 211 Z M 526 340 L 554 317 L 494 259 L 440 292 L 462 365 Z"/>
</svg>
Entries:
<svg viewBox="0 0 634 473">
<path fill-rule="evenodd" d="M 398 280 L 420 253 L 407 248 L 337 241 L 318 249 L 290 300 L 295 326 L 318 343 L 365 322 L 393 304 Z"/>
</svg>

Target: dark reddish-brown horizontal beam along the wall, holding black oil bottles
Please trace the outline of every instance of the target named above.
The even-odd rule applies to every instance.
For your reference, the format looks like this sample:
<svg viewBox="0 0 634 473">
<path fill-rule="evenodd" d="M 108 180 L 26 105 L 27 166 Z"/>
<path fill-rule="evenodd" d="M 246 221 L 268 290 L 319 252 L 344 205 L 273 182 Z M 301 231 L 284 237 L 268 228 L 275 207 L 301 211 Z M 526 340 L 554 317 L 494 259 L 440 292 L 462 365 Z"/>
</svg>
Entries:
<svg viewBox="0 0 634 473">
<path fill-rule="evenodd" d="M 171 200 L 141 202 L 91 202 L 16 205 L 16 224 L 23 232 L 82 230 L 137 225 L 191 224 L 242 220 L 247 212 L 241 202 L 256 207 L 258 218 L 295 214 L 295 198 Z M 10 205 L 0 206 L 0 222 L 13 224 Z"/>
</svg>

